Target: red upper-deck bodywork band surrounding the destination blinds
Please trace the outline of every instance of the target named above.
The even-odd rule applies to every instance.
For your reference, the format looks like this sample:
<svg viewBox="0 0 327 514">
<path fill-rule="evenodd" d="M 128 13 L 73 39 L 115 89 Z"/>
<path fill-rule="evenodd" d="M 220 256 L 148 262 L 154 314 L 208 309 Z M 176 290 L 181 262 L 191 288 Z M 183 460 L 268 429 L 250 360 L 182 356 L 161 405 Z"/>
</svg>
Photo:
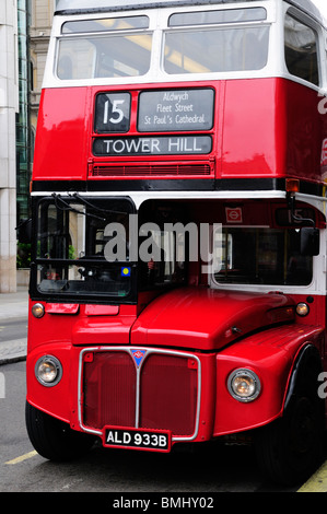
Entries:
<svg viewBox="0 0 327 514">
<path fill-rule="evenodd" d="M 155 89 L 164 86 L 156 84 Z M 199 82 L 197 86 L 208 87 L 208 83 Z M 208 132 L 213 136 L 211 154 L 192 155 L 191 160 L 186 155 L 166 156 L 160 162 L 155 156 L 144 161 L 144 156 L 92 155 L 92 139 L 97 136 L 93 133 L 95 95 L 105 87 L 44 90 L 33 180 L 296 177 L 322 182 L 320 156 L 327 127 L 326 117 L 318 114 L 315 91 L 284 79 L 220 81 L 211 86 L 215 91 L 214 128 Z M 144 85 L 142 91 L 151 87 Z M 140 89 L 128 90 L 132 94 L 132 136 L 138 133 Z M 121 87 L 110 86 L 110 91 Z"/>
</svg>

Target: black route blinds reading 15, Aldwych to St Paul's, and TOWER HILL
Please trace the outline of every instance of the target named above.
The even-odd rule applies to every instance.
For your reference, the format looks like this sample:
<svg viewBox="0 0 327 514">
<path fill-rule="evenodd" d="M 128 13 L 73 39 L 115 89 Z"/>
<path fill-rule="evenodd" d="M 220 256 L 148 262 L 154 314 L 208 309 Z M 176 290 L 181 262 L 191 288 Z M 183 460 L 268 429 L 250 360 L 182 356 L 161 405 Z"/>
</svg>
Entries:
<svg viewBox="0 0 327 514">
<path fill-rule="evenodd" d="M 130 127 L 129 93 L 100 93 L 96 97 L 93 154 L 103 155 L 177 155 L 208 154 L 211 136 L 118 136 Z M 212 89 L 145 91 L 139 95 L 139 132 L 206 131 L 213 127 L 214 92 Z"/>
</svg>

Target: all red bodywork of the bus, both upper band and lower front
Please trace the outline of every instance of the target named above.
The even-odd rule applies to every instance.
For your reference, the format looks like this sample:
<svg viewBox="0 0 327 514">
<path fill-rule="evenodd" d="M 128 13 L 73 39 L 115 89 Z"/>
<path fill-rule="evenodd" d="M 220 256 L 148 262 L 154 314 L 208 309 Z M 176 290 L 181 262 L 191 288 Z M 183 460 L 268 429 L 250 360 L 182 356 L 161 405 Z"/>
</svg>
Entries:
<svg viewBox="0 0 327 514">
<path fill-rule="evenodd" d="M 174 89 L 188 86 L 174 84 Z M 207 87 L 208 83 L 192 86 Z M 210 86 L 215 92 L 214 127 L 208 131 L 212 152 L 191 159 L 165 156 L 160 162 L 151 155 L 147 160 L 92 155 L 92 141 L 97 137 L 93 132 L 95 95 L 108 89 L 44 90 L 33 187 L 44 182 L 42 190 L 46 191 L 51 180 L 66 180 L 69 190 L 71 180 L 75 180 L 92 183 L 93 190 L 97 186 L 101 190 L 108 178 L 126 178 L 127 191 L 135 178 L 294 177 L 322 184 L 325 170 L 320 155 L 327 126 L 326 117 L 318 114 L 315 91 L 273 78 L 220 81 Z M 153 87 L 145 84 L 142 91 Z M 155 84 L 159 87 L 167 85 Z M 126 87 L 112 86 L 110 91 Z M 138 133 L 140 87 L 130 86 L 128 91 L 132 95 L 129 133 L 133 136 Z M 115 185 L 110 188 L 115 190 Z M 27 400 L 75 430 L 100 435 L 104 423 L 132 425 L 136 364 L 129 349 L 135 348 L 148 352 L 155 370 L 151 373 L 142 364 L 140 427 L 172 430 L 173 441 L 207 441 L 264 425 L 283 411 L 301 349 L 311 343 L 322 355 L 326 351 L 325 296 L 314 299 L 306 318 L 295 318 L 294 305 L 305 299 L 305 292 L 290 297 L 187 288 L 152 302 L 140 295 L 139 306 L 45 304 L 43 318 L 30 316 Z M 60 383 L 50 388 L 40 385 L 34 374 L 37 360 L 47 353 L 57 357 L 63 369 Z M 117 376 L 107 381 L 114 372 L 106 370 L 119 369 L 121 363 L 126 366 L 122 379 Z M 262 384 L 260 396 L 252 404 L 236 401 L 227 390 L 227 377 L 237 367 L 253 370 Z M 183 384 L 177 379 L 180 375 Z M 90 383 L 87 395 L 83 381 Z M 117 393 L 110 395 L 110 390 Z M 108 405 L 114 405 L 115 411 L 109 421 Z"/>
</svg>

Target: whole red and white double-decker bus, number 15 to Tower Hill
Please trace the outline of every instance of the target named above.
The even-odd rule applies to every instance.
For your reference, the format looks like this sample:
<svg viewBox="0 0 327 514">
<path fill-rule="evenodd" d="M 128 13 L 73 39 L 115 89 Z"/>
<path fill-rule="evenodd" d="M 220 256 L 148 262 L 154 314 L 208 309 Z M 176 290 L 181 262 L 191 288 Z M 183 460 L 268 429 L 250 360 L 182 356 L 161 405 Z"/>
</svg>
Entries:
<svg viewBox="0 0 327 514">
<path fill-rule="evenodd" d="M 238 440 L 282 483 L 317 468 L 326 40 L 310 0 L 57 1 L 31 184 L 42 456 Z"/>
</svg>

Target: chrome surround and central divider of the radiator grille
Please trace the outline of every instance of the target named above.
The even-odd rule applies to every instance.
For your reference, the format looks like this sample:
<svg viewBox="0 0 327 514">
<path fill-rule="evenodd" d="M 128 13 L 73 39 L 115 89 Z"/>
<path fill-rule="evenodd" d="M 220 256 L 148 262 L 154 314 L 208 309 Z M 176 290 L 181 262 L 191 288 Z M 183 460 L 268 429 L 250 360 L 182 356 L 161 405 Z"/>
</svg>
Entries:
<svg viewBox="0 0 327 514">
<path fill-rule="evenodd" d="M 132 351 L 133 350 L 141 350 L 144 351 L 144 357 L 140 363 L 140 365 L 137 365 Z M 82 418 L 82 397 L 83 397 L 83 387 L 82 387 L 82 369 L 83 369 L 83 355 L 86 352 L 98 352 L 98 351 L 125 351 L 126 353 L 129 353 L 132 362 L 135 363 L 136 371 L 137 371 L 137 398 L 136 398 L 136 428 L 139 428 L 139 407 L 140 407 L 140 372 L 143 365 L 143 362 L 147 360 L 147 358 L 153 353 L 161 353 L 161 354 L 168 354 L 168 355 L 176 355 L 176 357 L 184 357 L 187 359 L 192 359 L 197 361 L 198 364 L 198 393 L 197 393 L 197 410 L 196 410 L 196 419 L 195 419 L 195 431 L 192 435 L 189 436 L 172 436 L 172 442 L 179 442 L 179 441 L 194 441 L 199 432 L 199 420 L 200 420 L 200 407 L 201 407 L 201 361 L 200 359 L 195 355 L 194 353 L 189 352 L 183 352 L 183 351 L 177 351 L 177 350 L 162 350 L 157 348 L 145 348 L 145 347 L 90 347 L 90 348 L 84 348 L 80 352 L 80 359 L 79 359 L 79 384 L 78 384 L 78 413 L 79 413 L 79 424 L 80 428 L 87 433 L 91 434 L 96 434 L 96 435 L 102 435 L 103 431 L 102 430 L 95 430 L 95 429 L 90 429 L 83 424 L 83 418 Z"/>
</svg>

